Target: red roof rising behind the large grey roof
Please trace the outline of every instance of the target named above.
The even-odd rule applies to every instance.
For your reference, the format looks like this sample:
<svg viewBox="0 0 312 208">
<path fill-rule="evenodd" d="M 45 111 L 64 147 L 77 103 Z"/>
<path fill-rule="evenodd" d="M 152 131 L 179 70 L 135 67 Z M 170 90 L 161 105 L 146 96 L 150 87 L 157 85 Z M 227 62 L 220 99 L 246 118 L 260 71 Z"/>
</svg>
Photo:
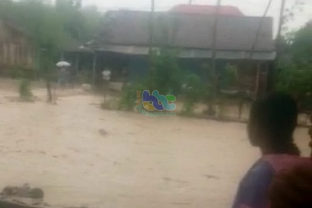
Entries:
<svg viewBox="0 0 312 208">
<path fill-rule="evenodd" d="M 217 11 L 216 9 L 216 6 L 212 5 L 178 4 L 170 11 L 184 14 L 214 15 Z M 227 16 L 244 16 L 244 14 L 235 6 L 220 6 L 219 14 Z"/>
</svg>

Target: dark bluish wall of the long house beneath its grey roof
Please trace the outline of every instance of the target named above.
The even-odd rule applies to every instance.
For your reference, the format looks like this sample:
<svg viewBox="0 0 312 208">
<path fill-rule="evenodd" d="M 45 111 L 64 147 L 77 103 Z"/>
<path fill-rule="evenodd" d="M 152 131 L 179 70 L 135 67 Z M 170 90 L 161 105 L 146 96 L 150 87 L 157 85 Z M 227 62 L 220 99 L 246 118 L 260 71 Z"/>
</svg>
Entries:
<svg viewBox="0 0 312 208">
<path fill-rule="evenodd" d="M 77 54 L 66 56 L 66 60 L 75 61 Z M 80 54 L 80 66 L 83 62 L 89 64 L 89 72 L 92 72 L 92 57 L 88 55 L 87 58 L 82 58 Z M 67 59 L 68 58 L 68 59 Z M 201 78 L 203 82 L 209 82 L 209 75 L 207 67 L 209 67 L 210 59 L 207 58 L 179 58 L 178 64 L 183 71 L 193 73 Z M 267 92 L 268 89 L 268 76 L 269 76 L 269 61 L 248 61 L 248 60 L 222 60 L 216 61 L 216 70 L 220 73 L 220 88 L 228 89 L 227 83 L 223 78 L 226 72 L 226 66 L 231 64 L 237 68 L 237 75 L 239 76 L 239 84 L 236 83 L 234 86 L 230 86 L 230 90 L 241 90 L 249 91 L 252 95 L 255 93 L 260 95 Z M 79 67 L 78 67 L 79 68 Z M 101 83 L 101 72 L 109 68 L 112 70 L 112 81 L 124 82 L 142 82 L 148 78 L 149 75 L 149 59 L 148 56 L 137 56 L 137 55 L 125 55 L 117 53 L 98 53 L 97 54 L 97 83 Z M 257 83 L 257 70 L 259 80 Z M 123 74 L 126 70 L 127 74 Z M 258 88 L 258 89 L 256 89 Z"/>
</svg>

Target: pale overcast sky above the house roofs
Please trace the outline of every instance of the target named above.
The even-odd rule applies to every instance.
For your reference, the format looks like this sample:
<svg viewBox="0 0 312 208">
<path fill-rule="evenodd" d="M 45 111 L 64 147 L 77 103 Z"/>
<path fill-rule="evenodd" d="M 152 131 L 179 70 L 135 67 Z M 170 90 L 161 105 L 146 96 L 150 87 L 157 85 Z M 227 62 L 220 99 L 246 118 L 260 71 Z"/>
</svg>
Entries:
<svg viewBox="0 0 312 208">
<path fill-rule="evenodd" d="M 149 10 L 151 0 L 82 0 L 84 5 L 97 5 L 101 11 L 116 9 Z M 216 4 L 216 0 L 192 0 L 193 4 Z M 289 23 L 292 29 L 302 27 L 309 19 L 312 19 L 312 0 L 304 0 L 305 6 L 302 12 L 295 15 L 295 20 Z M 269 0 L 222 0 L 222 5 L 237 6 L 245 15 L 262 16 Z M 295 0 L 287 0 L 290 7 Z M 155 0 L 156 10 L 168 10 L 176 4 L 189 3 L 189 0 Z M 273 0 L 268 16 L 274 18 L 274 29 L 278 25 L 279 8 L 281 0 Z"/>
</svg>

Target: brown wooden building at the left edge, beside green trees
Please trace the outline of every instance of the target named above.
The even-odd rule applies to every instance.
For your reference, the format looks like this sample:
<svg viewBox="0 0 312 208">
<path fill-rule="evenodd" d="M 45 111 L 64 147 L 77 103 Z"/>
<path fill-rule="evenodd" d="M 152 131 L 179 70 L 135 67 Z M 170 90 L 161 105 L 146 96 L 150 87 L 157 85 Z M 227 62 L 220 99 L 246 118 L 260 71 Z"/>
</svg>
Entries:
<svg viewBox="0 0 312 208">
<path fill-rule="evenodd" d="M 0 73 L 15 66 L 33 68 L 34 49 L 27 32 L 14 23 L 0 19 Z"/>
</svg>

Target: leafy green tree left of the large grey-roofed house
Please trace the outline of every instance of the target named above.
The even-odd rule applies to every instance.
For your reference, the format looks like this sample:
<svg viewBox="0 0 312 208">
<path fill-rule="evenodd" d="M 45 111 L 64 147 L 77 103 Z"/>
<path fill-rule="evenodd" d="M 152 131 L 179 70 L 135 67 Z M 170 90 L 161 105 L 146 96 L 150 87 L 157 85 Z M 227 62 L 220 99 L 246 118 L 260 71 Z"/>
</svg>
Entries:
<svg viewBox="0 0 312 208">
<path fill-rule="evenodd" d="M 97 8 L 81 8 L 81 0 L 0 0 L 0 18 L 16 22 L 28 31 L 37 51 L 39 74 L 47 81 L 48 100 L 52 100 L 50 81 L 56 74 L 60 52 L 72 42 L 93 38 L 101 15 Z"/>
</svg>

